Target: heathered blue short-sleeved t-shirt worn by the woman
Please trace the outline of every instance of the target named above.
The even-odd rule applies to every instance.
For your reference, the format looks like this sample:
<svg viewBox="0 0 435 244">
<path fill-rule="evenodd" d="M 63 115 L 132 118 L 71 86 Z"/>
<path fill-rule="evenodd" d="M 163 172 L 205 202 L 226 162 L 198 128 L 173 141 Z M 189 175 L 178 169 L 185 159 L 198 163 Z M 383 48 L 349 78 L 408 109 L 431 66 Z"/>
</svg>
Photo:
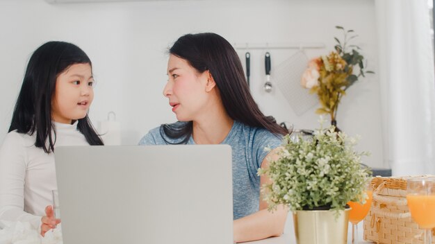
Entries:
<svg viewBox="0 0 435 244">
<path fill-rule="evenodd" d="M 177 140 L 168 137 L 165 137 L 165 141 L 162 134 L 160 127 L 154 128 L 140 140 L 139 144 L 165 145 L 169 144 L 166 141 L 177 142 Z M 230 132 L 222 141 L 221 144 L 228 144 L 232 149 L 234 220 L 254 214 L 259 210 L 260 177 L 257 175 L 257 170 L 269 153 L 265 148 L 277 148 L 281 145 L 281 139 L 280 135 L 272 134 L 264 128 L 252 128 L 234 121 Z M 190 136 L 188 144 L 195 144 L 192 136 Z"/>
</svg>

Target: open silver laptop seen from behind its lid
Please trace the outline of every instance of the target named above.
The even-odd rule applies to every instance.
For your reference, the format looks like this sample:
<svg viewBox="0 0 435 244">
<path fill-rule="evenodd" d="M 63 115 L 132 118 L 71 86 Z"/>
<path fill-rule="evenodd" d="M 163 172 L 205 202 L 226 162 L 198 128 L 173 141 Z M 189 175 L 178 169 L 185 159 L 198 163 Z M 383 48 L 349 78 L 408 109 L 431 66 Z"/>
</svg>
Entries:
<svg viewBox="0 0 435 244">
<path fill-rule="evenodd" d="M 63 243 L 233 243 L 231 147 L 68 146 L 55 154 Z"/>
</svg>

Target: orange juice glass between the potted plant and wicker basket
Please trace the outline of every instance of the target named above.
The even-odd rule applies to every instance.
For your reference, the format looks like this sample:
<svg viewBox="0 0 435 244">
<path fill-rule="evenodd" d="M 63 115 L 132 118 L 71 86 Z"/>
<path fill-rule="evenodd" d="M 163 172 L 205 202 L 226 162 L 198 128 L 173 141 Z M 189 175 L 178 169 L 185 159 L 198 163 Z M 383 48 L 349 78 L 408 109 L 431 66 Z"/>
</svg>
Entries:
<svg viewBox="0 0 435 244">
<path fill-rule="evenodd" d="M 360 202 L 347 202 L 347 204 L 352 208 L 349 211 L 349 221 L 352 223 L 352 244 L 358 242 L 358 223 L 366 218 L 366 215 L 372 206 L 373 191 L 370 182 L 372 182 L 372 179 L 366 182 L 364 190 L 364 193 L 366 193 L 365 203 L 361 204 Z M 361 202 L 363 202 L 362 198 L 363 196 L 361 196 Z"/>
</svg>

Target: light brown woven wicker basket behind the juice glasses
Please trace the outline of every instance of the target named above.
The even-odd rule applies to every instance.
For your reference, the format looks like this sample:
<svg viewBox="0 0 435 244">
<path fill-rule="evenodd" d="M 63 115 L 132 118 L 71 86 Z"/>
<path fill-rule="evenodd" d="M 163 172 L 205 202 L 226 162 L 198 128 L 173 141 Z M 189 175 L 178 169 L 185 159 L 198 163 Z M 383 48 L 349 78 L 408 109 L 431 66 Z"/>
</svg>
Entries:
<svg viewBox="0 0 435 244">
<path fill-rule="evenodd" d="M 423 244 L 424 229 L 420 229 L 418 224 L 413 222 L 407 206 L 407 179 L 410 178 L 373 178 L 372 207 L 364 219 L 366 241 L 383 244 Z M 435 243 L 435 238 L 432 240 L 432 243 Z"/>
</svg>

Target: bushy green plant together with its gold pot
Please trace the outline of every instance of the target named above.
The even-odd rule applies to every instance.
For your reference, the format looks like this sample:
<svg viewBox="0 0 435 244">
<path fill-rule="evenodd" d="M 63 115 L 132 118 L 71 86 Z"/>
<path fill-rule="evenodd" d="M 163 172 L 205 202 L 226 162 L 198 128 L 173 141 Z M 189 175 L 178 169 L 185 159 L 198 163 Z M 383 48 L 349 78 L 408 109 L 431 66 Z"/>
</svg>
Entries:
<svg viewBox="0 0 435 244">
<path fill-rule="evenodd" d="M 346 204 L 366 199 L 361 196 L 370 177 L 360 164 L 368 153 L 357 153 L 354 145 L 356 139 L 334 125 L 320 126 L 312 139 L 284 137 L 279 158 L 258 170 L 271 180 L 261 189 L 269 210 L 284 204 L 293 211 L 297 243 L 346 243 Z"/>
</svg>

